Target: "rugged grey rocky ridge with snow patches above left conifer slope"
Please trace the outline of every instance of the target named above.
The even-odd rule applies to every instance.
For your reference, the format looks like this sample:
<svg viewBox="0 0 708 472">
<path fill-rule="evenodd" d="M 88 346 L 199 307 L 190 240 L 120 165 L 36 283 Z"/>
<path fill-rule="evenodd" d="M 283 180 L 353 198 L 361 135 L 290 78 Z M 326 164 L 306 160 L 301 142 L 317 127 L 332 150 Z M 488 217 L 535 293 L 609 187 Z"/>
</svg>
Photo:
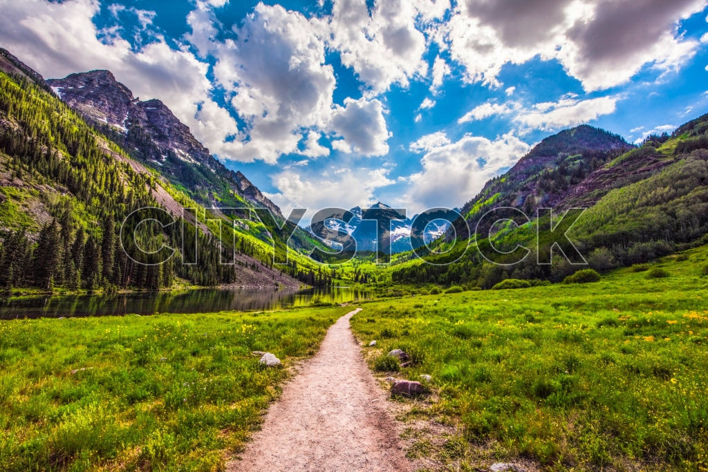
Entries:
<svg viewBox="0 0 708 472">
<path fill-rule="evenodd" d="M 280 208 L 241 172 L 227 169 L 160 100 L 141 101 L 110 71 L 71 74 L 47 81 L 71 108 L 84 115 L 133 156 L 158 168 L 206 207 L 241 206 L 240 199 Z"/>
</svg>

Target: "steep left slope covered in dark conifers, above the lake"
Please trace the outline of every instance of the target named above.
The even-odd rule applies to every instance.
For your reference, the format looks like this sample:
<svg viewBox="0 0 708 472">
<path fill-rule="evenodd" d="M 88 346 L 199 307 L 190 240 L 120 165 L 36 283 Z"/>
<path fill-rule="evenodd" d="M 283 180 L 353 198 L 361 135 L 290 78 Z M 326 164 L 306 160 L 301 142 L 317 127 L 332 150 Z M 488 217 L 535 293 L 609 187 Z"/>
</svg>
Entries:
<svg viewBox="0 0 708 472">
<path fill-rule="evenodd" d="M 197 219 L 170 224 L 166 214 L 179 218 L 185 207 L 199 207 L 183 188 L 96 132 L 17 58 L 3 51 L 0 64 L 0 287 L 159 289 L 178 279 L 298 287 L 290 275 L 304 278 L 316 267 L 296 258 L 282 267 L 286 273 L 274 270 L 272 251 L 256 236 L 267 239 L 263 225 L 220 234 L 203 209 Z M 257 195 L 250 183 L 242 185 Z M 154 209 L 145 216 L 164 226 L 123 226 L 147 207 Z M 124 245 L 121 234 L 132 238 Z M 215 235 L 235 248 L 234 264 L 219 263 Z M 182 264 L 181 253 L 158 264 L 157 255 L 137 251 L 164 246 L 195 248 L 190 258 L 198 264 Z"/>
</svg>

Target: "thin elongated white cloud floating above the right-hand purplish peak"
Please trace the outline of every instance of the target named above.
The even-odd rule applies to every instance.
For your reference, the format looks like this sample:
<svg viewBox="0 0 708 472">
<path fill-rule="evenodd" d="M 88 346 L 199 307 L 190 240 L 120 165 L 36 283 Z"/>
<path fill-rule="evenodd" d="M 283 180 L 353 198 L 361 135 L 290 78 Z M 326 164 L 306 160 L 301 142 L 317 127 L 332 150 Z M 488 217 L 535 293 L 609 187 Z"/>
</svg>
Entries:
<svg viewBox="0 0 708 472">
<path fill-rule="evenodd" d="M 606 96 L 578 100 L 574 96 L 561 98 L 557 102 L 525 105 L 519 101 L 507 103 L 486 102 L 466 113 L 459 124 L 484 120 L 493 116 L 508 117 L 518 125 L 517 132 L 525 134 L 533 129 L 554 131 L 565 127 L 581 125 L 597 120 L 602 115 L 615 113 L 619 96 Z"/>
</svg>

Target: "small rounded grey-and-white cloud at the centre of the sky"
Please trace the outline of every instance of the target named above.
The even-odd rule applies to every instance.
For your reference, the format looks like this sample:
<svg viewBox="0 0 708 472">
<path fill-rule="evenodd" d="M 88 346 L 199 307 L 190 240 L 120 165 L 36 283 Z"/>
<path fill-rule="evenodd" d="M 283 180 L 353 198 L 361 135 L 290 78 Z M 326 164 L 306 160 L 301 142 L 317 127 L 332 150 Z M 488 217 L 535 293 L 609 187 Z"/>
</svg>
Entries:
<svg viewBox="0 0 708 472">
<path fill-rule="evenodd" d="M 392 134 L 386 127 L 384 106 L 377 99 L 346 98 L 344 107 L 336 105 L 331 128 L 344 137 L 355 153 L 382 156 L 389 152 L 387 141 Z"/>
</svg>

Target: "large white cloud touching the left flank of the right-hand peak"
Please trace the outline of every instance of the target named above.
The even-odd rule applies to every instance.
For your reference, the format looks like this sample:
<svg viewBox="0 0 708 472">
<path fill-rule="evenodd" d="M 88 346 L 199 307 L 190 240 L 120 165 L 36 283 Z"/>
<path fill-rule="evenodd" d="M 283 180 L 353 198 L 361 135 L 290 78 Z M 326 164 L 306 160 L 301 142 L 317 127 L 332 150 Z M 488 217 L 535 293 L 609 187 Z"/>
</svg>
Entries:
<svg viewBox="0 0 708 472">
<path fill-rule="evenodd" d="M 432 136 L 432 135 L 431 135 Z M 409 178 L 404 201 L 420 212 L 430 207 L 457 207 L 470 200 L 487 180 L 513 166 L 530 146 L 506 134 L 491 141 L 467 134 L 457 142 L 437 133 L 411 148 L 426 151 L 423 170 Z"/>
</svg>

